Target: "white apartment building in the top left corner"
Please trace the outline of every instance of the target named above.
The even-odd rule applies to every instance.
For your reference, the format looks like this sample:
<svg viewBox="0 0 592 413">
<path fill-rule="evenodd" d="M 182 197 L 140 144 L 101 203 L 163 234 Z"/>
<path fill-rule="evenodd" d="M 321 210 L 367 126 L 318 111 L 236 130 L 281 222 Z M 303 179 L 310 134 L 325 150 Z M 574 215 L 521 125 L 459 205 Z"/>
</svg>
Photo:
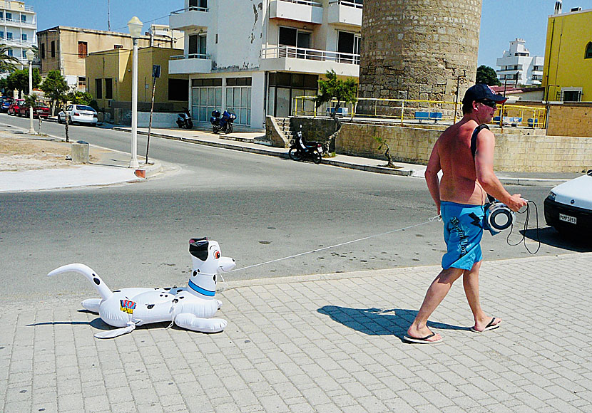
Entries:
<svg viewBox="0 0 592 413">
<path fill-rule="evenodd" d="M 0 44 L 27 68 L 26 51 L 37 45 L 37 15 L 24 1 L 0 1 Z M 19 66 L 19 65 L 17 65 Z"/>
</svg>

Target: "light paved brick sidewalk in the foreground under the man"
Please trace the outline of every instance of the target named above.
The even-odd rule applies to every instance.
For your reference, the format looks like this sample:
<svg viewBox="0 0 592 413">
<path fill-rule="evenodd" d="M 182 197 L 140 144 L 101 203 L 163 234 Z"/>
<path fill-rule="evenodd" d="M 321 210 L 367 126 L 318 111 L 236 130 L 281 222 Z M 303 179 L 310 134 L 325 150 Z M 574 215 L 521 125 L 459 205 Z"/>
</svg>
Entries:
<svg viewBox="0 0 592 413">
<path fill-rule="evenodd" d="M 481 300 L 501 328 L 468 329 L 459 282 L 429 324 L 439 345 L 401 340 L 435 266 L 230 274 L 217 296 L 228 327 L 212 335 L 156 324 L 93 338 L 108 326 L 81 310 L 90 285 L 83 297 L 4 298 L 0 411 L 590 412 L 591 267 L 592 253 L 485 262 Z"/>
</svg>

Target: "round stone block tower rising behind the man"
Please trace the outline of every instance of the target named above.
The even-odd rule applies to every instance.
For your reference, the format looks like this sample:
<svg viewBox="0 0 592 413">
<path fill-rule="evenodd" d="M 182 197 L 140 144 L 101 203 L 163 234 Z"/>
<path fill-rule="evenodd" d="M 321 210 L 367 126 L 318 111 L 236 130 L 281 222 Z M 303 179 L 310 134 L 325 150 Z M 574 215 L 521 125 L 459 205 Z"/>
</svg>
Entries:
<svg viewBox="0 0 592 413">
<path fill-rule="evenodd" d="M 480 26 L 481 0 L 364 1 L 359 97 L 454 102 L 465 74 L 461 100 L 475 81 Z"/>
</svg>

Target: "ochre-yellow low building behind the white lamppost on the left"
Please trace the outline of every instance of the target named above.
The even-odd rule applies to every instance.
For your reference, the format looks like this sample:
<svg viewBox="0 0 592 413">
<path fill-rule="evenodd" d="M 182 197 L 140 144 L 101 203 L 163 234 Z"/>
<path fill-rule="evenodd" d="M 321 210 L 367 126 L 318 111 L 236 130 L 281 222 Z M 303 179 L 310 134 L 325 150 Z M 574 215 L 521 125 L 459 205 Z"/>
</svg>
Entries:
<svg viewBox="0 0 592 413">
<path fill-rule="evenodd" d="M 146 47 L 138 50 L 138 110 L 150 111 L 152 100 L 153 65 L 160 65 L 156 80 L 154 110 L 180 111 L 187 107 L 189 81 L 187 75 L 169 75 L 170 56 L 183 53 L 180 49 Z M 90 53 L 86 58 L 88 91 L 98 108 L 109 112 L 118 121 L 117 110 L 131 110 L 132 51 L 117 48 Z"/>
</svg>

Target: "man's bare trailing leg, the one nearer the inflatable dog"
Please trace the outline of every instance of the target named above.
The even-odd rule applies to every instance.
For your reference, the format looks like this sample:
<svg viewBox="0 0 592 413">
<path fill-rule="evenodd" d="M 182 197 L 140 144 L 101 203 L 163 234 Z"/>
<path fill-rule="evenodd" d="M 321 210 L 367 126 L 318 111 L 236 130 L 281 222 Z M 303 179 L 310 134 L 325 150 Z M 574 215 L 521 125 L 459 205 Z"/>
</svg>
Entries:
<svg viewBox="0 0 592 413">
<path fill-rule="evenodd" d="M 450 291 L 452 283 L 459 279 L 463 271 L 464 270 L 461 270 L 460 268 L 447 268 L 446 270 L 442 270 L 434 281 L 432 281 L 432 285 L 427 289 L 422 307 L 419 308 L 415 320 L 413 320 L 412 325 L 410 325 L 409 330 L 407 330 L 408 337 L 424 338 L 427 335 L 432 334 L 429 328 L 427 328 L 427 319 L 432 313 L 434 313 L 434 310 L 436 310 L 438 305 L 442 303 L 442 300 L 444 300 L 444 297 L 446 297 L 446 294 Z M 442 337 L 437 334 L 427 341 L 436 341 L 441 338 Z"/>
</svg>

